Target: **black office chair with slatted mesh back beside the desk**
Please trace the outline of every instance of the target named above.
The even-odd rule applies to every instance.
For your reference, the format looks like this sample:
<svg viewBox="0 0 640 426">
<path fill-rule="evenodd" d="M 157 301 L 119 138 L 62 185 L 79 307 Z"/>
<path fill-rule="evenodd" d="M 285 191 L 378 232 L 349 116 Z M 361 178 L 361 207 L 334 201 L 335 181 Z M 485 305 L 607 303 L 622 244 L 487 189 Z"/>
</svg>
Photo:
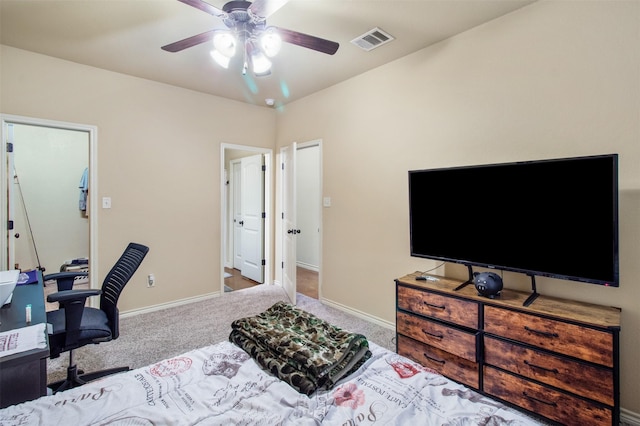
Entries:
<svg viewBox="0 0 640 426">
<path fill-rule="evenodd" d="M 101 290 L 70 290 L 72 275 L 82 276 L 86 272 L 62 272 L 61 288 L 57 293 L 47 296 L 48 302 L 58 302 L 58 310 L 47 312 L 47 322 L 53 330 L 49 334 L 49 352 L 51 358 L 57 358 L 62 352 L 69 352 L 67 378 L 49 384 L 53 392 L 60 392 L 83 385 L 109 374 L 129 370 L 129 367 L 117 367 L 95 373 L 84 374 L 73 362 L 73 350 L 90 343 L 108 342 L 118 338 L 119 313 L 118 298 L 124 286 L 136 272 L 149 248 L 141 244 L 129 243 L 124 253 L 111 268 L 102 283 Z M 54 277 L 51 274 L 48 277 Z M 66 287 L 65 287 L 66 286 Z M 85 307 L 90 296 L 100 295 L 100 309 Z"/>
</svg>

